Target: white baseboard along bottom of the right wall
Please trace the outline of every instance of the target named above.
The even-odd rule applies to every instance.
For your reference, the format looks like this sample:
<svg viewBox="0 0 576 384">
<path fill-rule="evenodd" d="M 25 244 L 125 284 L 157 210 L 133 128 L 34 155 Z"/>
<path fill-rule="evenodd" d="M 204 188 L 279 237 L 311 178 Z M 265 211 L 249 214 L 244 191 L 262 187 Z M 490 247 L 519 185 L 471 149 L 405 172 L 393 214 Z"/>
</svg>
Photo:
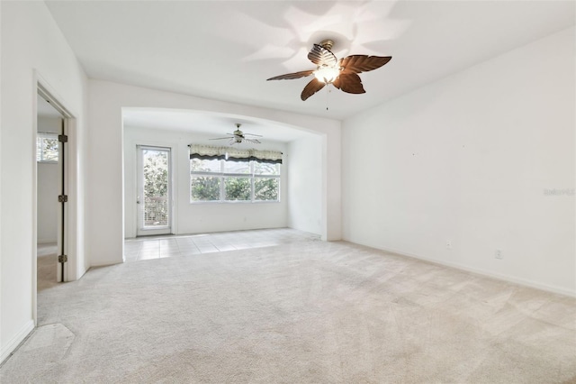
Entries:
<svg viewBox="0 0 576 384">
<path fill-rule="evenodd" d="M 502 273 L 494 273 L 490 270 L 470 268 L 470 267 L 466 267 L 462 264 L 458 264 L 458 263 L 454 263 L 454 262 L 437 261 L 437 260 L 430 259 L 427 257 L 419 256 L 419 255 L 414 254 L 414 253 L 397 251 L 397 250 L 393 250 L 391 248 L 379 248 L 379 247 L 375 247 L 374 245 L 363 244 L 361 242 L 352 242 L 352 243 L 364 245 L 365 247 L 374 248 L 376 250 L 392 253 L 392 254 L 395 254 L 398 256 L 410 257 L 411 259 L 418 259 L 421 261 L 427 261 L 427 262 L 430 262 L 433 264 L 442 265 L 444 267 L 455 268 L 456 270 L 464 270 L 466 272 L 471 272 L 471 273 L 481 275 L 481 276 L 484 276 L 487 278 L 499 279 L 501 281 L 507 281 L 507 282 L 518 284 L 518 285 L 528 287 L 528 288 L 536 288 L 536 289 L 540 289 L 540 290 L 545 290 L 547 292 L 552 292 L 552 293 L 556 293 L 556 294 L 567 296 L 567 297 L 576 297 L 576 291 L 572 291 L 572 290 L 565 289 L 565 288 L 549 286 L 547 284 L 543 284 L 543 283 L 540 283 L 540 282 L 537 282 L 534 280 L 515 278 L 513 276 L 505 275 Z"/>
</svg>

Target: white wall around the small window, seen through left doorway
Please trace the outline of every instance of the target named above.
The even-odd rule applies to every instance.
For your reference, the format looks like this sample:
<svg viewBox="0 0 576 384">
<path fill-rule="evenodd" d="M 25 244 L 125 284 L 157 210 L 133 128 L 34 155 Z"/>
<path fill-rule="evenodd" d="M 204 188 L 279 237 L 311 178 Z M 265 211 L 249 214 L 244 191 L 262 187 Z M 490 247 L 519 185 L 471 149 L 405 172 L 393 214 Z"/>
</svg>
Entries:
<svg viewBox="0 0 576 384">
<path fill-rule="evenodd" d="M 59 133 L 62 119 L 58 117 L 38 117 L 38 132 Z M 38 222 L 37 242 L 57 242 L 58 240 L 58 195 L 60 185 L 59 163 L 37 163 Z"/>
</svg>

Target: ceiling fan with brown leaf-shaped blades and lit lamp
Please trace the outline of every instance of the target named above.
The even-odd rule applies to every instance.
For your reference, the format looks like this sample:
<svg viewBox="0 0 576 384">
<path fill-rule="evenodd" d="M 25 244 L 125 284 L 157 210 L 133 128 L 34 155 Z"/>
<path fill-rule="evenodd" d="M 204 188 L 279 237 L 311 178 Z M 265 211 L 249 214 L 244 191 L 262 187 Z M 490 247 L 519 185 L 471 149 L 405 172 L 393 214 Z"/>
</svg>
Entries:
<svg viewBox="0 0 576 384">
<path fill-rule="evenodd" d="M 316 64 L 316 69 L 288 73 L 268 78 L 267 80 L 290 80 L 293 78 L 305 78 L 313 74 L 314 78 L 302 90 L 302 101 L 328 84 L 332 84 L 334 87 L 349 94 L 364 94 L 366 91 L 358 74 L 379 69 L 392 59 L 392 56 L 350 55 L 338 60 L 331 51 L 333 45 L 334 41 L 331 40 L 324 40 L 320 44 L 314 44 L 314 47 L 308 53 L 308 59 Z"/>
</svg>

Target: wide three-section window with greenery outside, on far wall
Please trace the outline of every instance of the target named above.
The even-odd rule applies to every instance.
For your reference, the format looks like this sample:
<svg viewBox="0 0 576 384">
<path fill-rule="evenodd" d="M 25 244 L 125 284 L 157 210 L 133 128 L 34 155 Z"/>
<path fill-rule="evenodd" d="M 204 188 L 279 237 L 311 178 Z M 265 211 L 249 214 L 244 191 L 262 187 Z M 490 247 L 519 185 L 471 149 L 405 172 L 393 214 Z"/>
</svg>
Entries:
<svg viewBox="0 0 576 384">
<path fill-rule="evenodd" d="M 217 147 L 203 147 L 206 148 L 219 150 Z M 246 157 L 239 156 L 248 151 L 222 151 L 225 151 L 224 154 L 211 155 L 191 151 L 191 202 L 280 201 L 281 152 L 274 152 L 276 157 L 280 157 L 279 160 L 267 160 L 254 156 L 257 152 L 254 150 L 249 151 Z"/>
</svg>

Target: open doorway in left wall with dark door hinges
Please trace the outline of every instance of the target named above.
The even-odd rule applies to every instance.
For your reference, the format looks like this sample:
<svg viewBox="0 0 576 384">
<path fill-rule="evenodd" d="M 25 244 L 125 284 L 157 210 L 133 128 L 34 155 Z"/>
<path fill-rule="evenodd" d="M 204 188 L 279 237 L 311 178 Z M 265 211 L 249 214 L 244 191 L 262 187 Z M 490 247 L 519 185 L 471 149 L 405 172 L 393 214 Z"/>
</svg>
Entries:
<svg viewBox="0 0 576 384">
<path fill-rule="evenodd" d="M 32 317 L 38 325 L 41 289 L 76 277 L 76 120 L 55 92 L 36 80 L 32 211 Z M 69 139 L 68 139 L 69 138 Z M 70 200 L 70 202 L 68 202 Z"/>
</svg>

